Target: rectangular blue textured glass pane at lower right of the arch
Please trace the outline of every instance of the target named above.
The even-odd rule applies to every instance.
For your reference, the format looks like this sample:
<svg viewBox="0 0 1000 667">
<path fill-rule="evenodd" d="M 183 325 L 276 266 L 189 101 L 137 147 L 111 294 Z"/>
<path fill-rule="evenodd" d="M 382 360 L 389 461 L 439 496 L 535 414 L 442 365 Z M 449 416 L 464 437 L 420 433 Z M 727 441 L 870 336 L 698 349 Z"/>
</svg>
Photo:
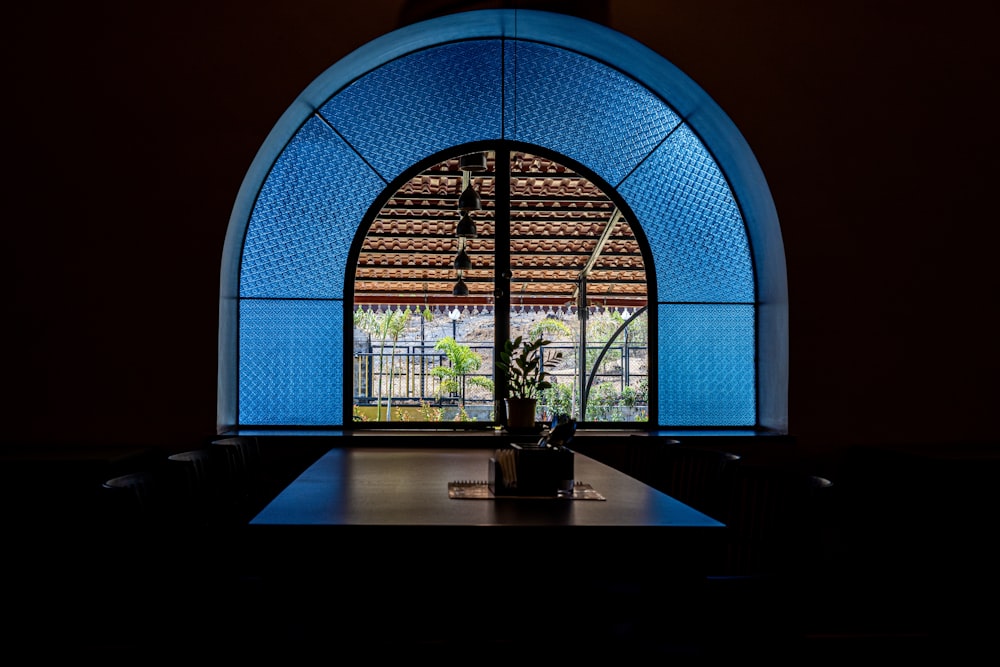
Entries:
<svg viewBox="0 0 1000 667">
<path fill-rule="evenodd" d="M 660 424 L 754 426 L 753 306 L 668 304 L 657 313 Z"/>
</svg>

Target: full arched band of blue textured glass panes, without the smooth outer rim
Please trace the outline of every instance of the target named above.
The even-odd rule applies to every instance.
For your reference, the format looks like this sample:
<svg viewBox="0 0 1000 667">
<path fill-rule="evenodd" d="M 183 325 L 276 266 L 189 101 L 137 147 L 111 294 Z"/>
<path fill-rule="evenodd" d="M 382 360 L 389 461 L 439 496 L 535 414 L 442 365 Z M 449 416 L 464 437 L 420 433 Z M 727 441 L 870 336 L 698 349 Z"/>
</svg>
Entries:
<svg viewBox="0 0 1000 667">
<path fill-rule="evenodd" d="M 365 213 L 413 165 L 499 138 L 585 166 L 635 214 L 656 275 L 659 424 L 755 425 L 754 267 L 712 155 L 667 103 L 620 71 L 500 39 L 434 46 L 365 73 L 278 156 L 243 247 L 241 424 L 349 419 L 342 299 Z"/>
</svg>

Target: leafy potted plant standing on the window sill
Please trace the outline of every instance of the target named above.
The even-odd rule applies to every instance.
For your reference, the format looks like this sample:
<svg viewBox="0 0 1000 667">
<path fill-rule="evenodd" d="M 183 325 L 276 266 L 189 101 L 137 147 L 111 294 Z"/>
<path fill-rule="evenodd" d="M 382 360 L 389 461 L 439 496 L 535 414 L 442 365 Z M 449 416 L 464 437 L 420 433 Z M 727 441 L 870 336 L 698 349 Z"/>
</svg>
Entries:
<svg viewBox="0 0 1000 667">
<path fill-rule="evenodd" d="M 504 342 L 496 366 L 507 378 L 507 396 L 504 401 L 507 406 L 508 428 L 534 427 L 538 394 L 552 386 L 547 379 L 547 369 L 562 360 L 562 352 L 556 352 L 548 358 L 543 357 L 542 348 L 551 342 L 542 336 L 531 341 L 518 336 Z"/>
</svg>

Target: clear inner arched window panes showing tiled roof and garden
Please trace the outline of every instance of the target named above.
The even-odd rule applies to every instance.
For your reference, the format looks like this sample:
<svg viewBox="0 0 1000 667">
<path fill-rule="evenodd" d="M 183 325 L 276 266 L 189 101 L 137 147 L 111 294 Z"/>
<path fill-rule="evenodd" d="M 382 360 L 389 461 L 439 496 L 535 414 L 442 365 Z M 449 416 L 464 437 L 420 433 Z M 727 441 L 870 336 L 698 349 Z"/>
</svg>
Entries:
<svg viewBox="0 0 1000 667">
<path fill-rule="evenodd" d="M 629 223 L 557 161 L 501 155 L 504 178 L 493 152 L 456 156 L 372 221 L 355 271 L 355 421 L 496 424 L 494 350 L 517 336 L 562 354 L 536 419 L 646 421 L 647 277 Z"/>
</svg>

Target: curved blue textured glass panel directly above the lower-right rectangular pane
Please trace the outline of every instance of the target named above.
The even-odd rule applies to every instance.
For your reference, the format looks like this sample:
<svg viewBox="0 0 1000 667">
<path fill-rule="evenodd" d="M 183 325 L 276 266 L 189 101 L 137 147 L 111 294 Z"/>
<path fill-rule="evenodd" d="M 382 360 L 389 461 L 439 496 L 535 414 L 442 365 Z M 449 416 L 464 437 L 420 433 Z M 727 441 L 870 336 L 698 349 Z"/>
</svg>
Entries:
<svg viewBox="0 0 1000 667">
<path fill-rule="evenodd" d="M 649 241 L 658 301 L 754 301 L 743 218 L 690 129 L 678 128 L 618 192 Z"/>
</svg>

